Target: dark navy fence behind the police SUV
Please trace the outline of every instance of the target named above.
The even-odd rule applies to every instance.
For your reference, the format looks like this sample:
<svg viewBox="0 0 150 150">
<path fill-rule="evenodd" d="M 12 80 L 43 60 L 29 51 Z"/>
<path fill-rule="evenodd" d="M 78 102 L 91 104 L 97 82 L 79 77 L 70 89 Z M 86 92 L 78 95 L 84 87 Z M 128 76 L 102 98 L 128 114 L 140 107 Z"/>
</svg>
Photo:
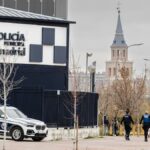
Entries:
<svg viewBox="0 0 150 150">
<path fill-rule="evenodd" d="M 77 93 L 79 126 L 97 125 L 98 94 Z M 8 104 L 22 110 L 27 116 L 43 120 L 51 127 L 73 127 L 72 92 L 39 89 L 15 90 Z"/>
</svg>

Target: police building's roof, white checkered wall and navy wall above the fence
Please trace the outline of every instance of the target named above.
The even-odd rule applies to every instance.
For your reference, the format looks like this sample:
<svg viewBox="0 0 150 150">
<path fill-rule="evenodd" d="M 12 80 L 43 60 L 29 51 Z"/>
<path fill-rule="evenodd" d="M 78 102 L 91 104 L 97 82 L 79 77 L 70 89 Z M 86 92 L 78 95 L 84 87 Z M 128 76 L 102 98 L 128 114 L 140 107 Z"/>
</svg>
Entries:
<svg viewBox="0 0 150 150">
<path fill-rule="evenodd" d="M 70 22 L 6 7 L 0 11 L 0 54 L 19 66 L 17 76 L 26 77 L 22 86 L 68 90 Z"/>
</svg>

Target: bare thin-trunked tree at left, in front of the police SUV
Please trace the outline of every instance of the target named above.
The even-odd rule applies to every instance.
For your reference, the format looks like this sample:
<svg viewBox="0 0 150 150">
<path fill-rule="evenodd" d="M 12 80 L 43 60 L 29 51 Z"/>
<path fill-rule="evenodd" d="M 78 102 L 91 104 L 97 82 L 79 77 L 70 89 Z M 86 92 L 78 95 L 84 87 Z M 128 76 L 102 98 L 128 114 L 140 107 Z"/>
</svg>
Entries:
<svg viewBox="0 0 150 150">
<path fill-rule="evenodd" d="M 15 76 L 17 72 L 17 67 L 14 63 L 10 62 L 9 56 L 1 55 L 0 57 L 0 98 L 4 101 L 4 140 L 3 140 L 3 150 L 5 150 L 6 141 L 6 105 L 9 94 L 24 80 L 21 77 L 19 80 L 15 81 Z"/>
</svg>

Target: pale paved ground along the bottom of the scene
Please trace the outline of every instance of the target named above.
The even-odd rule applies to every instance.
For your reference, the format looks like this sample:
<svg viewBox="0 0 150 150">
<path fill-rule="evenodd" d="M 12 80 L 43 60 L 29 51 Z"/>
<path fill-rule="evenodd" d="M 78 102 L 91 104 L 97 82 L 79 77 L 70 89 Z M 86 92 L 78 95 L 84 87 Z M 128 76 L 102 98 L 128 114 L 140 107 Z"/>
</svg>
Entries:
<svg viewBox="0 0 150 150">
<path fill-rule="evenodd" d="M 144 138 L 131 137 L 130 141 L 125 141 L 124 137 L 108 136 L 104 138 L 79 140 L 79 150 L 150 150 L 149 142 L 144 142 Z M 2 150 L 3 140 L 0 139 L 0 150 Z M 6 150 L 73 150 L 72 140 L 33 142 L 25 140 L 23 142 L 6 141 Z"/>
</svg>

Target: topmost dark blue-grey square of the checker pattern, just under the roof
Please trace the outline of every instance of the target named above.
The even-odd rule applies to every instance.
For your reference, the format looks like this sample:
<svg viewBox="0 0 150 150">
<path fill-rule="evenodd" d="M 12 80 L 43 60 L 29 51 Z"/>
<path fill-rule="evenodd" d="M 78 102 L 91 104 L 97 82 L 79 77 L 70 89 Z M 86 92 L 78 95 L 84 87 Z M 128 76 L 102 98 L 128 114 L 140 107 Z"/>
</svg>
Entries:
<svg viewBox="0 0 150 150">
<path fill-rule="evenodd" d="M 42 28 L 42 44 L 43 45 L 55 44 L 55 29 Z"/>
</svg>

